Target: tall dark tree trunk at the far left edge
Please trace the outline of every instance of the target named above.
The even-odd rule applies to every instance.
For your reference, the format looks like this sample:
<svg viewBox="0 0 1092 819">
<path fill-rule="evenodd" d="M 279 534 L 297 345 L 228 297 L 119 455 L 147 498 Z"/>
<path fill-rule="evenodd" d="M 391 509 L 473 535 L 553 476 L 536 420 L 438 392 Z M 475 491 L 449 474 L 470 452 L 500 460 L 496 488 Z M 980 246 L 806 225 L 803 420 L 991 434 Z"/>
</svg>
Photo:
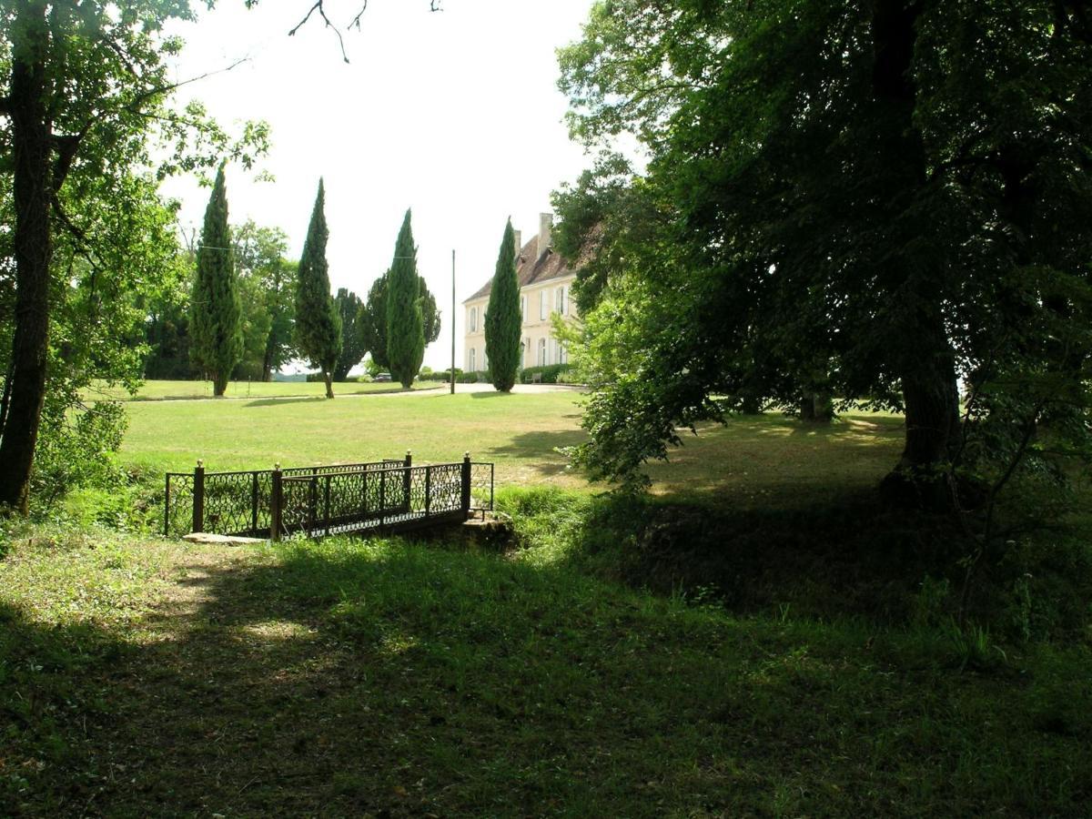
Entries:
<svg viewBox="0 0 1092 819">
<path fill-rule="evenodd" d="M 26 512 L 49 351 L 50 149 L 46 107 L 48 32 L 43 2 L 20 4 L 8 110 L 15 161 L 15 333 L 11 397 L 0 439 L 0 506 Z"/>
</svg>

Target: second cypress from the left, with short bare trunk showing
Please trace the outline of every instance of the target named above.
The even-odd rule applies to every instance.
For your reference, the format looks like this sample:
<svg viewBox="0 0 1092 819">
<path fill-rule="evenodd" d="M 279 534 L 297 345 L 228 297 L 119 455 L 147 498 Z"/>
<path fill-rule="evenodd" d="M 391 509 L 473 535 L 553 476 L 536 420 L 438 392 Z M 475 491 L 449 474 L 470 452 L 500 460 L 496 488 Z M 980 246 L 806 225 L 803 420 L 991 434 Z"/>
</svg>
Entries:
<svg viewBox="0 0 1092 819">
<path fill-rule="evenodd" d="M 322 371 L 327 383 L 327 397 L 334 396 L 331 379 L 341 354 L 341 317 L 330 297 L 330 274 L 327 264 L 327 217 L 323 212 L 325 191 L 319 179 L 319 194 L 314 198 L 311 224 L 304 241 L 296 280 L 296 341 L 300 354 L 310 359 L 312 367 Z"/>
</svg>

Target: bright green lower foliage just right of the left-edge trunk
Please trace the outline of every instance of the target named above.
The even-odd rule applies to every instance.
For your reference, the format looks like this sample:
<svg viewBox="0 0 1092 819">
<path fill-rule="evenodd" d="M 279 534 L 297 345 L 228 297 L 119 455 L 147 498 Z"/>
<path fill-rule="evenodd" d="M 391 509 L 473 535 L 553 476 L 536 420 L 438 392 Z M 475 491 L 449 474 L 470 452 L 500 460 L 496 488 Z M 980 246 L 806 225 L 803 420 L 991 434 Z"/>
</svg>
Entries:
<svg viewBox="0 0 1092 819">
<path fill-rule="evenodd" d="M 10 206 L 10 199 L 2 201 Z M 31 487 L 31 511 L 38 517 L 56 513 L 67 492 L 109 486 L 117 477 L 114 453 L 126 419 L 116 405 L 96 403 L 98 388 L 108 384 L 118 394 L 136 389 L 147 351 L 146 306 L 173 304 L 192 272 L 178 252 L 174 213 L 159 201 L 152 180 L 126 174 L 87 180 L 79 200 L 63 201 L 67 207 L 79 203 L 88 230 L 85 244 L 61 234 L 54 261 L 48 380 Z M 118 213 L 124 218 L 110 217 Z M 10 233 L 5 236 L 0 258 L 10 259 Z M 80 248 L 93 249 L 90 260 Z M 2 320 L 13 307 L 5 300 L 10 270 L 0 263 L 4 372 L 13 329 Z M 88 389 L 93 379 L 96 387 Z"/>
</svg>

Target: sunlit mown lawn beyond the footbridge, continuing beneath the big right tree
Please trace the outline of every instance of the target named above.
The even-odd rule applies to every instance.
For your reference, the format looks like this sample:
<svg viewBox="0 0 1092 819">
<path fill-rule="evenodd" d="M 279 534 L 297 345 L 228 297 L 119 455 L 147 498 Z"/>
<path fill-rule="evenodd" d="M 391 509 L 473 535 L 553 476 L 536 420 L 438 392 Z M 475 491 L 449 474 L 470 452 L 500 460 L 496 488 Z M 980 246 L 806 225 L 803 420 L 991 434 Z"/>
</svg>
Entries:
<svg viewBox="0 0 1092 819">
<path fill-rule="evenodd" d="M 571 392 L 449 395 L 438 390 L 347 401 L 134 402 L 127 406 L 130 428 L 122 453 L 163 470 L 188 470 L 199 458 L 209 470 L 233 470 L 370 461 L 401 456 L 407 449 L 418 462 L 437 463 L 470 451 L 477 460 L 496 462 L 500 484 L 589 488 L 558 452 L 585 440 L 579 400 Z M 728 491 L 736 506 L 764 505 L 774 497 L 792 506 L 802 491 L 816 499 L 874 486 L 898 460 L 902 419 L 856 414 L 815 427 L 768 414 L 734 418 L 726 427 L 710 425 L 684 440 L 669 463 L 649 466 L 656 491 L 709 501 Z"/>
</svg>

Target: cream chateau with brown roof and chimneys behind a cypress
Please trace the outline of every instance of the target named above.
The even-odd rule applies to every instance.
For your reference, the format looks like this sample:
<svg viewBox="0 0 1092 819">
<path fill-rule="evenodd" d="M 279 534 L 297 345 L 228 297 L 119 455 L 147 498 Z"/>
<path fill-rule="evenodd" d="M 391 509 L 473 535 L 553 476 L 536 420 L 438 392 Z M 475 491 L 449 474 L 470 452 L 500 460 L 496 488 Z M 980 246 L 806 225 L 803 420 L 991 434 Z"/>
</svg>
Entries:
<svg viewBox="0 0 1092 819">
<path fill-rule="evenodd" d="M 560 253 L 550 248 L 554 214 L 538 216 L 538 235 L 521 245 L 521 234 L 515 232 L 515 275 L 520 283 L 520 311 L 523 316 L 523 358 L 521 366 L 543 367 L 566 364 L 568 354 L 563 344 L 554 337 L 550 317 L 557 312 L 567 319 L 577 316 L 570 297 L 570 287 L 577 271 L 569 268 Z M 463 370 L 486 370 L 489 361 L 485 354 L 485 311 L 489 305 L 492 278 L 477 293 L 463 301 L 466 310 Z"/>
</svg>

